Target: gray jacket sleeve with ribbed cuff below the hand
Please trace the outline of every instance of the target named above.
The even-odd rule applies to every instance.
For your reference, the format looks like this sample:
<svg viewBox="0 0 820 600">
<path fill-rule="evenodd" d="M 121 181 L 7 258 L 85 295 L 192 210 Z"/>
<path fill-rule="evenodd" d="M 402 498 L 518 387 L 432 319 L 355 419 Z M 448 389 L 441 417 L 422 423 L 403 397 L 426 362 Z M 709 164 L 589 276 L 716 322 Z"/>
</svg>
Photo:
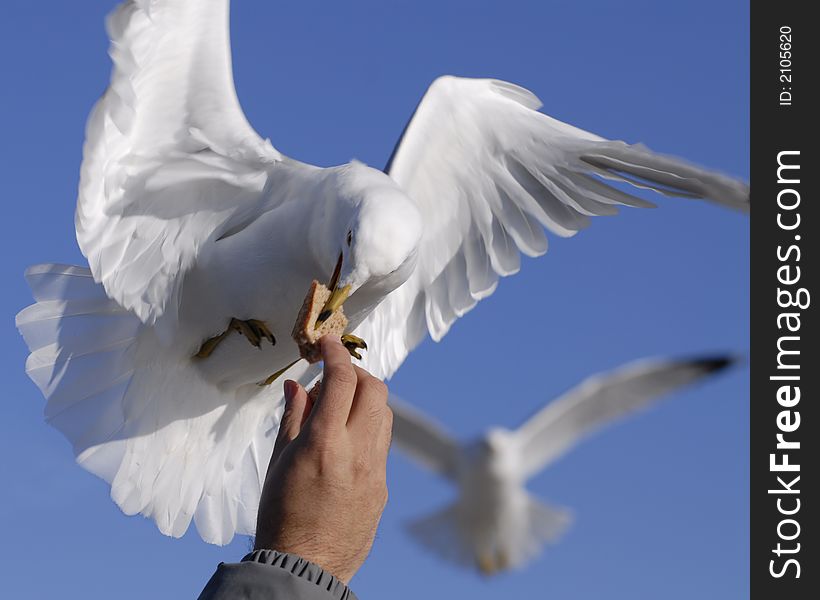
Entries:
<svg viewBox="0 0 820 600">
<path fill-rule="evenodd" d="M 256 550 L 220 563 L 199 600 L 357 600 L 348 587 L 295 554 Z"/>
</svg>

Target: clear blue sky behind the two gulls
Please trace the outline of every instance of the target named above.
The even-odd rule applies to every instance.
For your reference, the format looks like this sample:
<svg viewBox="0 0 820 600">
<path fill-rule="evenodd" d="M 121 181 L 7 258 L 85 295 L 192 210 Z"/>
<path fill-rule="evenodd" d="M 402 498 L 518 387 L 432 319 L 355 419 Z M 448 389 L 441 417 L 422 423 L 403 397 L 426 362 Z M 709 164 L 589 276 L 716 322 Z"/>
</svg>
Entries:
<svg viewBox="0 0 820 600">
<path fill-rule="evenodd" d="M 23 371 L 23 269 L 83 263 L 74 240 L 83 127 L 109 71 L 113 0 L 6 0 L 0 19 L 0 575 L 8 598 L 195 597 L 248 546 L 160 535 L 73 464 Z M 748 179 L 746 2 L 235 2 L 237 87 L 258 131 L 295 158 L 383 166 L 438 75 L 493 76 L 549 114 Z M 598 370 L 649 355 L 746 352 L 749 221 L 698 202 L 596 220 L 524 260 L 392 387 L 464 439 L 515 426 Z M 401 456 L 362 598 L 745 598 L 748 370 L 670 397 L 536 477 L 569 506 L 564 540 L 486 580 L 439 564 L 403 523 L 453 490 Z"/>
</svg>

